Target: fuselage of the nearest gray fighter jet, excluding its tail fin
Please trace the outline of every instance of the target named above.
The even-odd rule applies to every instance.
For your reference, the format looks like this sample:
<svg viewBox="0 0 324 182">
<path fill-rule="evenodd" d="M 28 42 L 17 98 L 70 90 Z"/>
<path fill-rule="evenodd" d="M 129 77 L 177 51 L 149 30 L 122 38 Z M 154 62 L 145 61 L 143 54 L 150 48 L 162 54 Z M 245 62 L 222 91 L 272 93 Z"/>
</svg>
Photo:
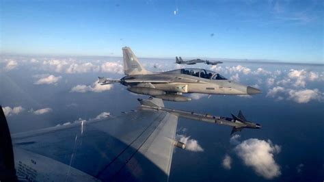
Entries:
<svg viewBox="0 0 324 182">
<path fill-rule="evenodd" d="M 187 75 L 188 71 L 193 75 Z M 207 73 L 207 75 L 206 75 Z M 206 77 L 202 77 L 202 75 Z M 140 83 L 140 82 L 143 83 Z M 135 83 L 134 83 L 135 82 Z M 150 75 L 129 75 L 121 79 L 124 86 L 154 88 L 164 92 L 201 94 L 258 94 L 259 90 L 243 86 L 204 69 L 178 69 Z"/>
</svg>

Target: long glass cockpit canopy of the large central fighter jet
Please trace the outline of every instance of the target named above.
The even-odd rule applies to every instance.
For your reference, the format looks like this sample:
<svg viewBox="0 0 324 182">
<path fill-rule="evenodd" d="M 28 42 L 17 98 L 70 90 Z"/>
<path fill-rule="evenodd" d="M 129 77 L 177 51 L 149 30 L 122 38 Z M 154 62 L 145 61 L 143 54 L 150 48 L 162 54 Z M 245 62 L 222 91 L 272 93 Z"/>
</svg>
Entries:
<svg viewBox="0 0 324 182">
<path fill-rule="evenodd" d="M 219 75 L 219 73 L 215 73 L 212 70 L 205 70 L 199 68 L 183 68 L 179 70 L 172 70 L 169 73 L 181 73 L 185 75 L 191 75 L 193 77 L 201 77 L 204 79 L 226 79 L 225 77 Z"/>
</svg>

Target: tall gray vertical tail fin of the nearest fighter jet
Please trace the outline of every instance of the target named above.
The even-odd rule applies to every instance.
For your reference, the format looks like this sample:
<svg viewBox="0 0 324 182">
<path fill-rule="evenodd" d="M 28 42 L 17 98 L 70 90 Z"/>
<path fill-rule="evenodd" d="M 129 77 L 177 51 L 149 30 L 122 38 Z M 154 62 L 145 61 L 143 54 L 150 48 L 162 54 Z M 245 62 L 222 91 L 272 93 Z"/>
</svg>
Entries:
<svg viewBox="0 0 324 182">
<path fill-rule="evenodd" d="M 150 71 L 146 70 L 137 59 L 131 48 L 123 47 L 122 55 L 124 58 L 124 73 L 125 75 L 146 75 Z"/>
</svg>

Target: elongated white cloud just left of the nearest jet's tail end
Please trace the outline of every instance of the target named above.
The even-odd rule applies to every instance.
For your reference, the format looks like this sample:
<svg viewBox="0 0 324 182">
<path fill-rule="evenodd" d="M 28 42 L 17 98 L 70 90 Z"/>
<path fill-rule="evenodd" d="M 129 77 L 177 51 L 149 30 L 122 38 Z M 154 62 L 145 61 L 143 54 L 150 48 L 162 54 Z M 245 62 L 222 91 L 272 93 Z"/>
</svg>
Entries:
<svg viewBox="0 0 324 182">
<path fill-rule="evenodd" d="M 107 90 L 111 90 L 113 88 L 113 85 L 100 85 L 98 81 L 95 81 L 92 83 L 90 86 L 85 86 L 85 85 L 77 85 L 73 87 L 70 92 L 80 92 L 80 93 L 85 93 L 85 92 L 105 92 Z"/>
</svg>

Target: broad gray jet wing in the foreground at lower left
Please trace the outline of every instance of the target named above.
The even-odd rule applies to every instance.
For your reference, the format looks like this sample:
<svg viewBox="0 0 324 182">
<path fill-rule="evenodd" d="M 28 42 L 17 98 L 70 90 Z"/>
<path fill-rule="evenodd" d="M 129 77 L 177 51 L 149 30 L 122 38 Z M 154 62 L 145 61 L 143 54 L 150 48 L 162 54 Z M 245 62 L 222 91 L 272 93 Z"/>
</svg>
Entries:
<svg viewBox="0 0 324 182">
<path fill-rule="evenodd" d="M 139 110 L 12 135 L 18 179 L 167 181 L 178 116 Z"/>
</svg>

